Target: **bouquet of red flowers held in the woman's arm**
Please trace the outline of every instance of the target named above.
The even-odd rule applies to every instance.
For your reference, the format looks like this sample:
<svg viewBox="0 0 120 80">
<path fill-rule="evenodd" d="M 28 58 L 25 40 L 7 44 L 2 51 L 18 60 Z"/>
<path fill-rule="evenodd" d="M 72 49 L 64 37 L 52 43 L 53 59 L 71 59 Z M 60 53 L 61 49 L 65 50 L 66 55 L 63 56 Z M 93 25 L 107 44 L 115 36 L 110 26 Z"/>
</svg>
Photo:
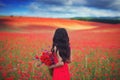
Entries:
<svg viewBox="0 0 120 80">
<path fill-rule="evenodd" d="M 55 64 L 55 56 L 52 52 L 49 51 L 42 52 L 40 57 L 36 55 L 35 59 L 40 60 L 41 63 L 44 63 L 47 66 Z"/>
</svg>

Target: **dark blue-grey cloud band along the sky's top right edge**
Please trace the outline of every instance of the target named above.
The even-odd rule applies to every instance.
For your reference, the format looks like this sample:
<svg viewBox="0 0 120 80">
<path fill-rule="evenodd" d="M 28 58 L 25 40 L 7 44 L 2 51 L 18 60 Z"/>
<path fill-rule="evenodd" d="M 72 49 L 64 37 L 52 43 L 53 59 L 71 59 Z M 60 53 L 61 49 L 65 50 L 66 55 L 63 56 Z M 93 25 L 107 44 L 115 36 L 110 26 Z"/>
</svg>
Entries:
<svg viewBox="0 0 120 80">
<path fill-rule="evenodd" d="M 36 0 L 40 4 L 44 5 L 56 5 L 56 6 L 87 6 L 99 9 L 111 9 L 119 10 L 120 0 Z M 71 3 L 70 5 L 68 5 Z M 119 5 L 119 6 L 118 6 Z"/>
</svg>

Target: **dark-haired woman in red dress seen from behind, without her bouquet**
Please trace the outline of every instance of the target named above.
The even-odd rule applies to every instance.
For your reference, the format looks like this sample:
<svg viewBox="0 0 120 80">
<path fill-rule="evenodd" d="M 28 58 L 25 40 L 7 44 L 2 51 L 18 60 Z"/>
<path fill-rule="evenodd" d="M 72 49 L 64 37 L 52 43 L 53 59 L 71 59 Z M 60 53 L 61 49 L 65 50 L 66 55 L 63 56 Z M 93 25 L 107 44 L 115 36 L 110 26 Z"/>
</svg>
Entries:
<svg viewBox="0 0 120 80">
<path fill-rule="evenodd" d="M 57 58 L 56 64 L 49 67 L 53 69 L 52 80 L 70 80 L 68 63 L 71 62 L 71 50 L 69 37 L 64 28 L 56 29 L 51 51 Z"/>
</svg>

